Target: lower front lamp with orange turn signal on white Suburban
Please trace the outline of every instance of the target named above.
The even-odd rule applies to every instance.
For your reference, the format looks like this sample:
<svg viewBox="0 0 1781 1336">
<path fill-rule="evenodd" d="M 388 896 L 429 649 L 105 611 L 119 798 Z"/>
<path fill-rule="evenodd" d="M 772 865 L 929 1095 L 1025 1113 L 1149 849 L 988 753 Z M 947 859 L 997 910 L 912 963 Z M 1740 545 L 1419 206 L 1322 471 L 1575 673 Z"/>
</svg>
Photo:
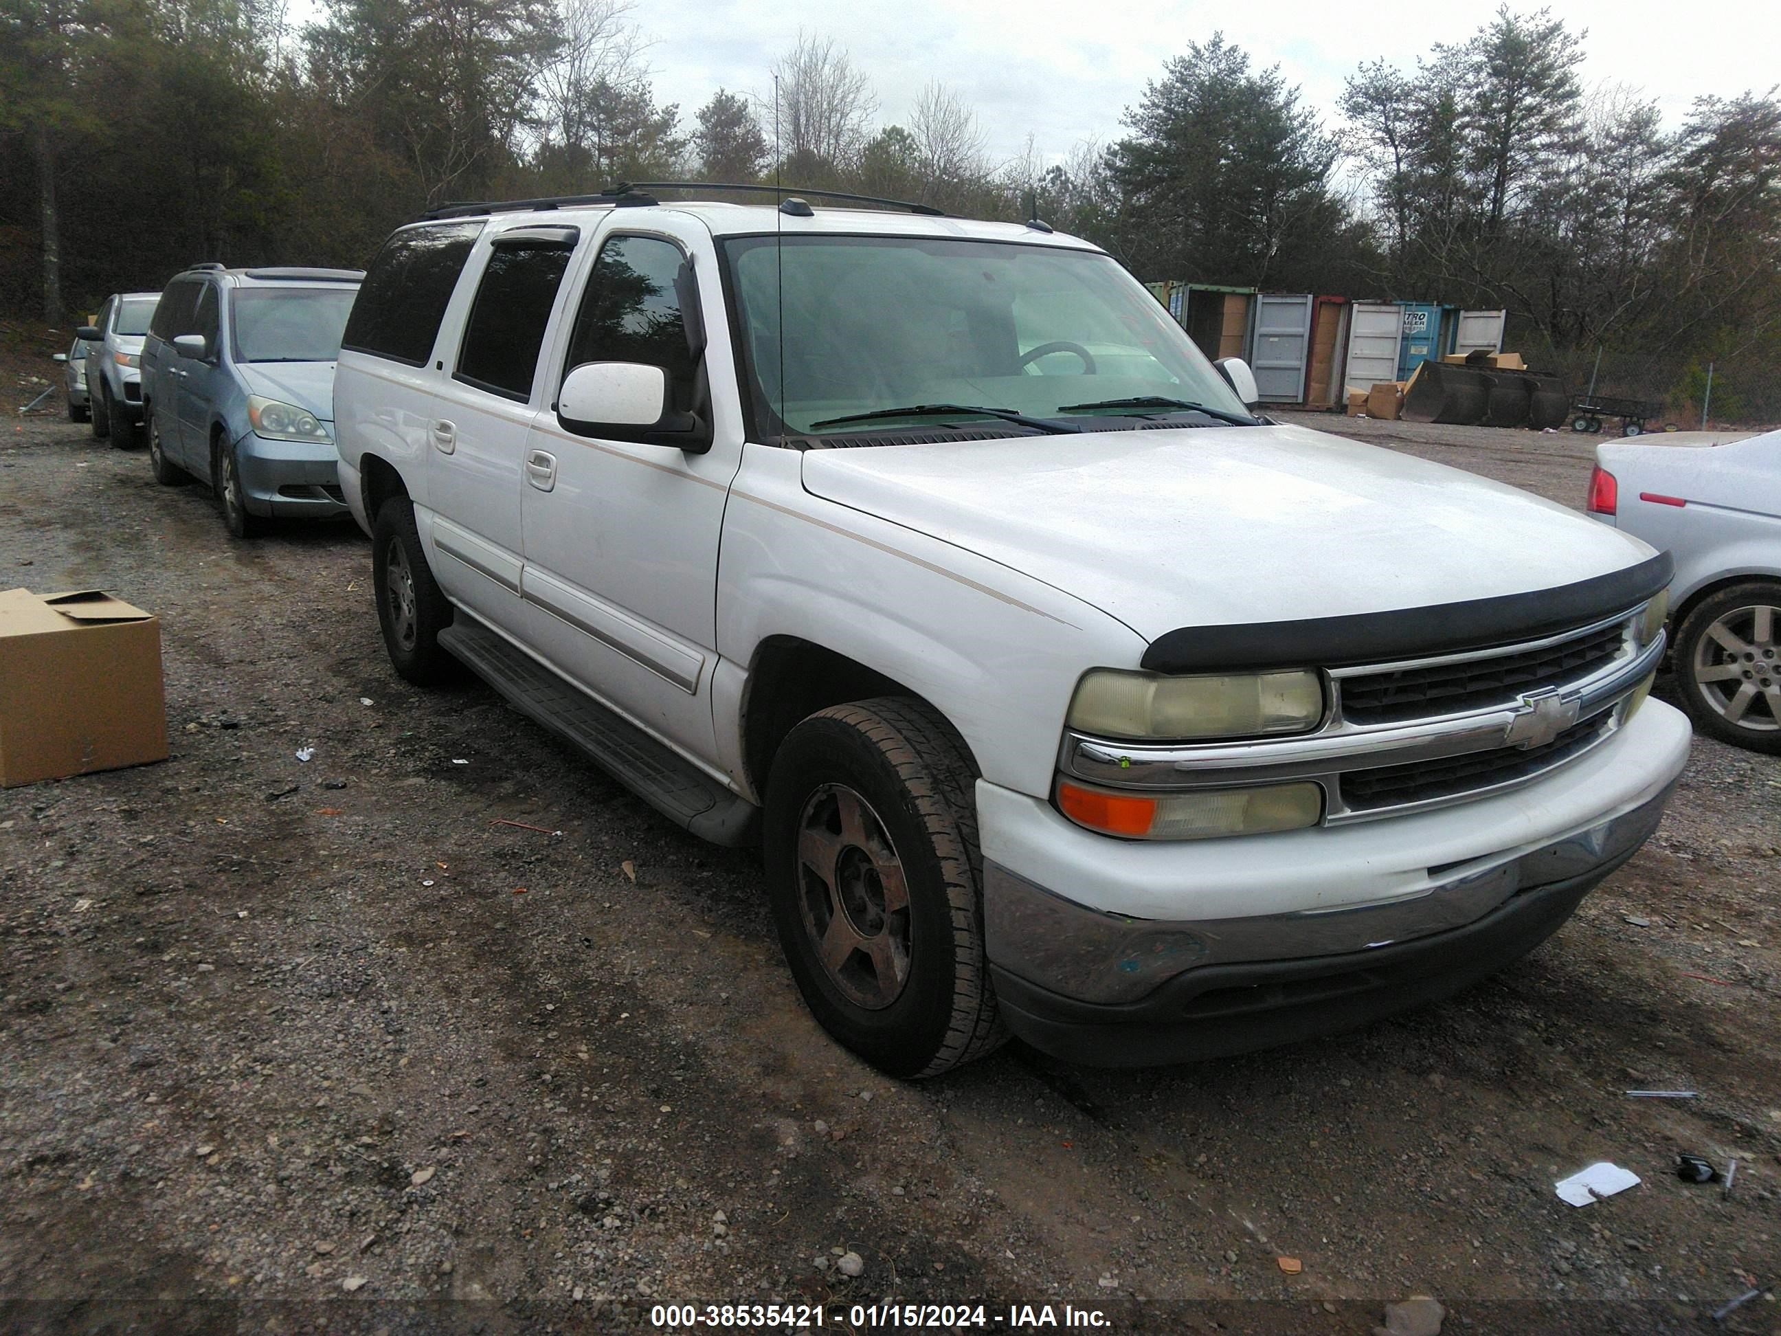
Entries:
<svg viewBox="0 0 1781 1336">
<path fill-rule="evenodd" d="M 1152 794 L 1060 780 L 1058 807 L 1076 825 L 1104 835 L 1216 839 L 1314 827 L 1323 816 L 1323 789 L 1316 784 L 1263 784 Z"/>
</svg>

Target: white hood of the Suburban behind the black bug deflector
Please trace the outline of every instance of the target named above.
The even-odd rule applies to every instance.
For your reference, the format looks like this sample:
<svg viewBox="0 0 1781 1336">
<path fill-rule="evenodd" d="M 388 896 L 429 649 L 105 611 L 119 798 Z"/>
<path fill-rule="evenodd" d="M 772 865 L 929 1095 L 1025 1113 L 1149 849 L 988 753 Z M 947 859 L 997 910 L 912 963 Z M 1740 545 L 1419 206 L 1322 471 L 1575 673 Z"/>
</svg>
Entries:
<svg viewBox="0 0 1781 1336">
<path fill-rule="evenodd" d="M 807 451 L 803 486 L 1145 639 L 1528 593 L 1651 556 L 1519 488 L 1291 426 Z"/>
</svg>

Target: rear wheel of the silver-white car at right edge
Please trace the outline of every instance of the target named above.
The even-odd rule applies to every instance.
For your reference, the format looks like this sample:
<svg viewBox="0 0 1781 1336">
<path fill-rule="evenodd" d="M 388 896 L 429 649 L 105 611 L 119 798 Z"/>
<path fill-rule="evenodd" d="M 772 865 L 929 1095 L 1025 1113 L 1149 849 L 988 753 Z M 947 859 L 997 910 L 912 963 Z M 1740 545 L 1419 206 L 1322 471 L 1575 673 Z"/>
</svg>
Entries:
<svg viewBox="0 0 1781 1336">
<path fill-rule="evenodd" d="M 1722 643 L 1715 627 L 1742 648 Z M 1781 755 L 1781 582 L 1742 581 L 1697 602 L 1676 632 L 1674 664 L 1676 691 L 1699 732 Z"/>
</svg>

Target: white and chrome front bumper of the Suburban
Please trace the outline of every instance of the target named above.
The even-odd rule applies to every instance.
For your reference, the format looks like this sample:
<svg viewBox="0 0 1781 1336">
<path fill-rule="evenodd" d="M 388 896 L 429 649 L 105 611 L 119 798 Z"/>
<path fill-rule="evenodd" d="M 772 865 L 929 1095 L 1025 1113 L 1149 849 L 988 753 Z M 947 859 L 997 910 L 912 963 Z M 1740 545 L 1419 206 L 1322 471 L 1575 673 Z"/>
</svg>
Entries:
<svg viewBox="0 0 1781 1336">
<path fill-rule="evenodd" d="M 1687 754 L 1687 721 L 1649 702 L 1598 754 L 1462 809 L 1163 848 L 1078 832 L 1104 862 L 1174 866 L 1174 903 L 1142 916 L 1106 901 L 1154 905 L 1161 887 L 1035 876 L 1069 859 L 1012 843 L 1008 803 L 985 802 L 980 786 L 1003 1014 L 1072 1062 L 1143 1065 L 1309 1039 L 1448 996 L 1539 946 L 1639 850 Z M 1307 862 L 1307 848 L 1322 857 Z"/>
</svg>

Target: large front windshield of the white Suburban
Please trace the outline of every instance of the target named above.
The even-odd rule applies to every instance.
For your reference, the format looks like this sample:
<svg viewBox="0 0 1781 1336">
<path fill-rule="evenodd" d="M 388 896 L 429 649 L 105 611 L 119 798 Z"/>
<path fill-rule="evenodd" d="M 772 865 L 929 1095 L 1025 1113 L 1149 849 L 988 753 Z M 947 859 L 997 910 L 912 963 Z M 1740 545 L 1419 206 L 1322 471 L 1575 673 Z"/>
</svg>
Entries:
<svg viewBox="0 0 1781 1336">
<path fill-rule="evenodd" d="M 972 428 L 1006 420 L 940 413 L 937 404 L 1086 429 L 1097 417 L 1168 415 L 1188 404 L 1243 415 L 1186 331 L 1095 251 L 821 235 L 736 237 L 723 251 L 753 378 L 757 440 L 787 429 L 931 431 L 947 417 Z M 901 424 L 887 411 L 915 406 L 928 411 Z M 862 413 L 885 417 L 857 420 Z"/>
</svg>

